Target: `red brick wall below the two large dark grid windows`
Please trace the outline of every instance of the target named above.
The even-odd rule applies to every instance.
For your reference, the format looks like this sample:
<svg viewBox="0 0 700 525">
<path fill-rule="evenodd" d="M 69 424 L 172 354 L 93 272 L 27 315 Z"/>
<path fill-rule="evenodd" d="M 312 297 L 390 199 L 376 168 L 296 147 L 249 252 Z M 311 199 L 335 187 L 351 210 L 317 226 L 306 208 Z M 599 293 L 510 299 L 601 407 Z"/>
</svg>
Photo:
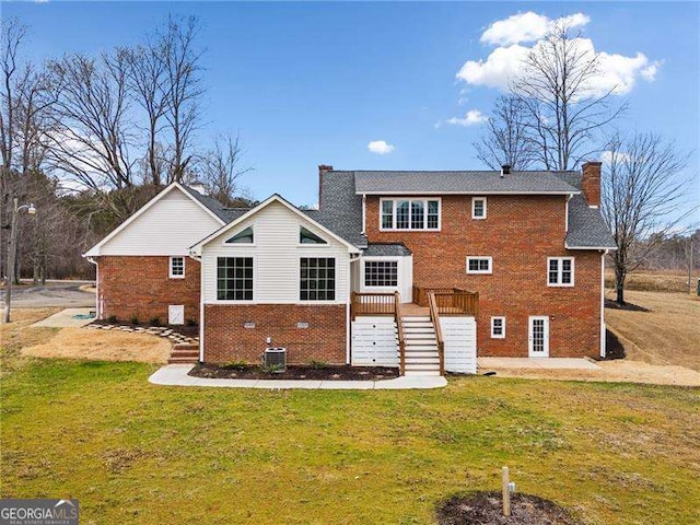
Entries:
<svg viewBox="0 0 700 525">
<path fill-rule="evenodd" d="M 255 323 L 255 328 L 244 328 Z M 298 328 L 308 323 L 308 328 Z M 287 348 L 288 362 L 346 362 L 346 306 L 299 304 L 205 305 L 205 362 L 259 363 L 268 346 Z"/>
</svg>

